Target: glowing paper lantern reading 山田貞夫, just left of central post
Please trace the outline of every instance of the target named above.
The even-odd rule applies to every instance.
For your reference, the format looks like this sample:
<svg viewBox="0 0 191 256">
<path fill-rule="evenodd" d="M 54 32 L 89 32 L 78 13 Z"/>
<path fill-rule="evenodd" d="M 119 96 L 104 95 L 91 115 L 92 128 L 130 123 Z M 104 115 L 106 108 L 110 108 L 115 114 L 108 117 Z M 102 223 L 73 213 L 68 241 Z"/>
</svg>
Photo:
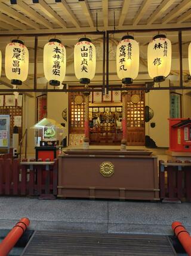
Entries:
<svg viewBox="0 0 191 256">
<path fill-rule="evenodd" d="M 96 47 L 89 38 L 81 38 L 74 47 L 74 69 L 80 83 L 88 84 L 96 73 Z"/>
</svg>

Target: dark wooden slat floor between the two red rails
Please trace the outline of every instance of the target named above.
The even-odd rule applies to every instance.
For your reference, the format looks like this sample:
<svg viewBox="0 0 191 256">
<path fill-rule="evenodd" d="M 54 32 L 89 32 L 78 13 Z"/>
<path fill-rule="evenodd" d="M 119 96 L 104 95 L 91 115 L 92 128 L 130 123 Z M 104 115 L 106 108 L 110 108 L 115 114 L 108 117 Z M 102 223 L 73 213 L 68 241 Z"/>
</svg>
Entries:
<svg viewBox="0 0 191 256">
<path fill-rule="evenodd" d="M 168 236 L 35 231 L 22 256 L 177 255 Z"/>
</svg>

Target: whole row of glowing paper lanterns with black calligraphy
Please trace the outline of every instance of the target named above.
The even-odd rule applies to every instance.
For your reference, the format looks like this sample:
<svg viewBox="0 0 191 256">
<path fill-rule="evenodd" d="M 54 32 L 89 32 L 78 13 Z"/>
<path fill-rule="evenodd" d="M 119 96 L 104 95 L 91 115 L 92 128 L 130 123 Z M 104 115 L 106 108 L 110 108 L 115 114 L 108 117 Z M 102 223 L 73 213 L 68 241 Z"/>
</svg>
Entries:
<svg viewBox="0 0 191 256">
<path fill-rule="evenodd" d="M 149 76 L 162 82 L 171 70 L 171 41 L 165 35 L 156 35 L 147 49 Z M 96 73 L 96 48 L 89 38 L 81 38 L 74 48 L 75 76 L 80 83 L 88 84 Z M 27 79 L 29 52 L 21 40 L 12 40 L 5 49 L 5 74 L 13 85 Z M 125 35 L 116 49 L 116 69 L 124 84 L 131 84 L 138 76 L 139 46 L 131 35 Z M 191 43 L 189 45 L 191 74 Z M 60 86 L 66 74 L 66 49 L 57 38 L 44 46 L 44 74 L 50 85 Z M 0 51 L 1 75 L 1 51 Z"/>
</svg>

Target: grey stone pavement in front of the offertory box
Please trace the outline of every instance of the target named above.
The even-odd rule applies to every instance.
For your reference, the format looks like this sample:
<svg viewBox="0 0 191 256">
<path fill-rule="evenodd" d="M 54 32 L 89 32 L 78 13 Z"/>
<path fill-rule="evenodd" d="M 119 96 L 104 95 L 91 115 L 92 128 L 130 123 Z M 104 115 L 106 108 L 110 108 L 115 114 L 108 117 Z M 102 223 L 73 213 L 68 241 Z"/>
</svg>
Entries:
<svg viewBox="0 0 191 256">
<path fill-rule="evenodd" d="M 191 203 L 0 197 L 0 229 L 22 217 L 32 230 L 172 234 L 172 221 L 180 221 L 191 232 Z"/>
</svg>

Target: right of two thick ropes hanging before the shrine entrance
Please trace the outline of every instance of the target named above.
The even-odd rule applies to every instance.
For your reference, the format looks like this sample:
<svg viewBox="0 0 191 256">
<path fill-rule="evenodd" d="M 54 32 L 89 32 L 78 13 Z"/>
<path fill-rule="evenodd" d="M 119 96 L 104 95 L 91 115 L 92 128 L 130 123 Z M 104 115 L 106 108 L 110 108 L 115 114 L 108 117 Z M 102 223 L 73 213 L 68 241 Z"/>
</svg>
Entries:
<svg viewBox="0 0 191 256">
<path fill-rule="evenodd" d="M 125 88 L 125 85 L 123 85 Z M 127 91 L 122 91 L 122 140 L 121 150 L 126 150 L 127 145 Z"/>
</svg>

